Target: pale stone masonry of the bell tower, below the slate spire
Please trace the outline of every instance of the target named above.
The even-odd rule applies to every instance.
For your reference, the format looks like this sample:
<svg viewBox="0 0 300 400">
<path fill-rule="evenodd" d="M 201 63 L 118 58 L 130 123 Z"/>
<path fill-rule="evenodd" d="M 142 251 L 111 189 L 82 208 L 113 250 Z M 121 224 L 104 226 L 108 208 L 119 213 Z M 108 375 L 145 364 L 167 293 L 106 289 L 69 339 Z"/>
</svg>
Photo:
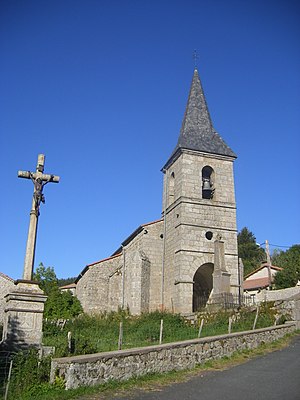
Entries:
<svg viewBox="0 0 300 400">
<path fill-rule="evenodd" d="M 166 210 L 165 306 L 192 311 L 193 278 L 205 262 L 213 262 L 214 241 L 222 236 L 231 292 L 238 293 L 238 253 L 233 160 L 184 151 L 164 176 Z M 202 198 L 202 169 L 209 165 L 213 199 Z M 170 195 L 171 194 L 171 195 Z M 213 238 L 208 240 L 210 231 Z M 209 260 L 206 261 L 207 256 Z"/>
</svg>

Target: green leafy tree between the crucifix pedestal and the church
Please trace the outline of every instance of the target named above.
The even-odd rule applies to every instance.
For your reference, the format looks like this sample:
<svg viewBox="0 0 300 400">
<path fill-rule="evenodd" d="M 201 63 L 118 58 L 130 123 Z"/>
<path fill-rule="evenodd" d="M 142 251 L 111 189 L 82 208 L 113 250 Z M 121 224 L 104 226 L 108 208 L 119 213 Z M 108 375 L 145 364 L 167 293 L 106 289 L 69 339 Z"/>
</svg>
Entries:
<svg viewBox="0 0 300 400">
<path fill-rule="evenodd" d="M 83 312 L 80 301 L 70 291 L 62 292 L 58 286 L 58 279 L 52 267 L 45 268 L 42 263 L 34 273 L 34 279 L 39 282 L 40 288 L 48 296 L 44 317 L 48 319 L 68 319 Z"/>
</svg>

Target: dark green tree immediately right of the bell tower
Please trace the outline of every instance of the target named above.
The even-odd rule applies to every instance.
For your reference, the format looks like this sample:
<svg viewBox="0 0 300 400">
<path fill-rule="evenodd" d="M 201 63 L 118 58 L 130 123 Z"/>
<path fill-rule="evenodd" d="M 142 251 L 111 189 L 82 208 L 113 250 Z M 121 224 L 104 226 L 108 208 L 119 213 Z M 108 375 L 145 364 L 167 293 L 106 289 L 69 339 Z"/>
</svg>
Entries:
<svg viewBox="0 0 300 400">
<path fill-rule="evenodd" d="M 254 234 L 246 227 L 238 233 L 238 254 L 243 260 L 244 276 L 258 268 L 266 259 L 264 250 L 256 244 Z"/>
</svg>

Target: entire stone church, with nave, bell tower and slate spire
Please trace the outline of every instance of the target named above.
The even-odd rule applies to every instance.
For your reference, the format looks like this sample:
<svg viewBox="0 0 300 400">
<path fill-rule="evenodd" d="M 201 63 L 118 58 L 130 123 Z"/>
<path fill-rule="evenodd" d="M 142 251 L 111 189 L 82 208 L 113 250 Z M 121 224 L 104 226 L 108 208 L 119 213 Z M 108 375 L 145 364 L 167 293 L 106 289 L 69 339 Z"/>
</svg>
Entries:
<svg viewBox="0 0 300 400">
<path fill-rule="evenodd" d="M 187 314 L 240 293 L 233 162 L 194 70 L 177 145 L 162 172 L 162 218 L 140 225 L 76 280 L 85 312 Z"/>
</svg>

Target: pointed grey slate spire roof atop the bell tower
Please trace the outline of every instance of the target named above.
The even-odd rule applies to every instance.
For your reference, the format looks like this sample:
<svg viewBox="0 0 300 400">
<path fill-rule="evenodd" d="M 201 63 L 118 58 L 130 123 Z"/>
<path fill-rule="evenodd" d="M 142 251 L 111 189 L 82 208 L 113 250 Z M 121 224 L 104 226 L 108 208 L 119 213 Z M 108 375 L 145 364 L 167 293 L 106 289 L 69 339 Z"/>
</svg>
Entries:
<svg viewBox="0 0 300 400">
<path fill-rule="evenodd" d="M 194 70 L 179 139 L 167 164 L 172 161 L 180 149 L 236 158 L 236 154 L 213 127 L 197 69 Z"/>
</svg>

